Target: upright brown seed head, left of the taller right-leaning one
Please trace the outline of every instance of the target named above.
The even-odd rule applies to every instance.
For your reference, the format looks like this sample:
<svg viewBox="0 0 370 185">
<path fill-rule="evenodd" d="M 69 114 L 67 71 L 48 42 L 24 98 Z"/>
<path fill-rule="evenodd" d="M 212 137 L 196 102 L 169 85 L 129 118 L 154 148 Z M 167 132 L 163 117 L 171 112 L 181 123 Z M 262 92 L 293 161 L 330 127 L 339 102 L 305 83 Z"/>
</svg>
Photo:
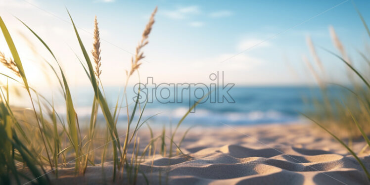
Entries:
<svg viewBox="0 0 370 185">
<path fill-rule="evenodd" d="M 99 34 L 99 28 L 97 26 L 97 20 L 96 20 L 96 16 L 95 16 L 95 20 L 94 20 L 94 43 L 93 43 L 93 50 L 91 51 L 91 53 L 93 54 L 93 58 L 94 58 L 94 62 L 95 62 L 95 76 L 96 76 L 96 79 L 97 79 L 97 83 L 99 83 L 99 80 L 100 80 L 100 75 L 101 75 L 101 69 L 100 69 L 100 66 L 101 66 L 101 57 L 100 57 L 100 52 L 101 52 L 101 49 L 100 49 L 100 34 Z"/>
</svg>

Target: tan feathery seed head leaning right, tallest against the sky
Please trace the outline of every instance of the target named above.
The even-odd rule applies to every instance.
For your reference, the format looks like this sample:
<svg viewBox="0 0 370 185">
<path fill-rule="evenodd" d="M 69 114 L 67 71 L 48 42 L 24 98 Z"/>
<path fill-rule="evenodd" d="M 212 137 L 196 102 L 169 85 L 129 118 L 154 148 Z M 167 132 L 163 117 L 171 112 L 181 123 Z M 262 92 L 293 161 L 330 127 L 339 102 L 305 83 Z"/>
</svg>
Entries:
<svg viewBox="0 0 370 185">
<path fill-rule="evenodd" d="M 149 43 L 149 41 L 147 39 L 148 39 L 148 36 L 150 34 L 151 28 L 152 28 L 152 26 L 155 22 L 154 21 L 154 15 L 155 15 L 156 12 L 157 12 L 157 7 L 155 7 L 154 11 L 152 12 L 152 14 L 150 16 L 150 19 L 149 19 L 149 22 L 148 22 L 148 24 L 146 24 L 145 30 L 142 33 L 141 41 L 139 42 L 139 45 L 136 47 L 135 59 L 134 59 L 134 57 L 131 57 L 131 70 L 130 70 L 130 73 L 128 74 L 129 77 L 136 70 L 139 69 L 139 66 L 141 65 L 141 63 L 139 63 L 139 61 L 145 57 L 144 53 L 141 51 L 141 48 Z"/>
</svg>

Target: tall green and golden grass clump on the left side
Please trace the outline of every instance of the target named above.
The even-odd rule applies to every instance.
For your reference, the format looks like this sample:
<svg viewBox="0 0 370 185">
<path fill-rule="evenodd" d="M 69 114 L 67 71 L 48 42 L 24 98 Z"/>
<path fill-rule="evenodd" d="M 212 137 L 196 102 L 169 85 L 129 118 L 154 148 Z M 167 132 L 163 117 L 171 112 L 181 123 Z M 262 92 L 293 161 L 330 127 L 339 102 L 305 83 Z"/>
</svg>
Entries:
<svg viewBox="0 0 370 185">
<path fill-rule="evenodd" d="M 128 184 L 136 184 L 139 173 L 139 164 L 144 161 L 146 154 L 148 154 L 149 157 L 154 157 L 156 154 L 155 142 L 162 141 L 162 148 L 166 148 L 165 130 L 163 130 L 161 136 L 154 137 L 150 126 L 148 125 L 151 133 L 150 141 L 149 144 L 145 146 L 145 149 L 140 151 L 139 146 L 142 144 L 142 142 L 140 142 L 140 138 L 138 137 L 138 131 L 143 124 L 145 124 L 155 115 L 148 117 L 144 121 L 141 121 L 146 103 L 143 107 L 141 107 L 138 100 L 135 102 L 135 106 L 131 111 L 131 114 L 129 114 L 129 103 L 126 94 L 127 83 L 130 77 L 135 72 L 137 72 L 139 75 L 139 66 L 141 65 L 141 60 L 144 58 L 142 48 L 148 44 L 148 37 L 155 22 L 154 16 L 156 12 L 157 8 L 155 8 L 152 12 L 149 22 L 142 33 L 142 38 L 139 42 L 139 45 L 136 47 L 136 53 L 131 60 L 130 73 L 127 72 L 125 91 L 122 95 L 121 104 L 119 104 L 120 98 L 118 98 L 114 111 L 112 111 L 108 106 L 105 94 L 103 95 L 101 93 L 101 90 L 103 90 L 103 85 L 100 80 L 101 48 L 97 18 L 95 16 L 94 19 L 93 49 L 91 51 L 93 55 L 92 62 L 84 44 L 81 41 L 75 23 L 68 12 L 86 63 L 84 64 L 83 61 L 81 61 L 79 58 L 78 59 L 81 62 L 94 91 L 91 117 L 90 120 L 88 120 L 90 125 L 87 125 L 86 128 L 80 128 L 79 122 L 81 119 L 78 118 L 77 112 L 75 111 L 67 78 L 64 75 L 64 71 L 60 67 L 57 57 L 54 55 L 49 46 L 47 46 L 44 40 L 42 40 L 41 37 L 38 36 L 30 27 L 21 21 L 41 42 L 41 44 L 45 46 L 59 68 L 60 73 L 57 73 L 57 70 L 55 70 L 48 61 L 45 61 L 48 64 L 47 66 L 52 69 L 52 72 L 58 79 L 60 88 L 62 89 L 62 94 L 65 101 L 65 115 L 60 115 L 57 113 L 54 108 L 53 100 L 50 102 L 50 100 L 45 98 L 37 90 L 28 86 L 27 78 L 16 47 L 12 42 L 10 33 L 5 26 L 5 23 L 0 17 L 1 31 L 5 37 L 9 49 L 11 50 L 13 58 L 15 58 L 15 60 L 7 59 L 3 53 L 0 53 L 1 63 L 8 67 L 12 72 L 16 72 L 17 75 L 22 78 L 22 81 L 18 81 L 3 73 L 0 73 L 0 75 L 24 85 L 33 105 L 32 110 L 23 109 L 23 111 L 27 110 L 27 115 L 19 115 L 19 112 L 13 114 L 14 108 L 8 104 L 8 87 L 0 86 L 0 133 L 6 133 L 3 135 L 0 134 L 0 181 L 3 179 L 3 181 L 0 182 L 1 184 L 11 184 L 11 176 L 14 177 L 16 181 L 15 183 L 18 185 L 21 184 L 20 180 L 26 181 L 27 183 L 35 183 L 37 181 L 39 184 L 48 184 L 50 183 L 48 181 L 49 175 L 43 176 L 43 174 L 48 172 L 46 169 L 51 169 L 50 172 L 52 172 L 53 177 L 57 179 L 60 167 L 72 165 L 72 162 L 74 163 L 75 167 L 75 175 L 84 175 L 88 165 L 95 165 L 95 160 L 97 159 L 96 156 L 98 155 L 101 156 L 102 168 L 104 168 L 104 162 L 107 159 L 113 161 L 113 181 L 117 180 L 118 178 L 122 181 L 122 178 L 126 177 L 125 175 L 127 175 L 127 177 L 123 179 L 124 182 L 127 182 Z M 4 92 L 3 89 L 6 89 L 6 92 Z M 34 96 L 37 97 L 34 98 L 35 101 L 33 100 Z M 116 126 L 120 114 L 120 108 L 123 107 L 122 104 L 124 100 L 126 100 L 125 103 L 128 127 L 126 130 L 126 135 L 120 135 Z M 34 102 L 36 102 L 35 105 Z M 193 105 L 192 108 L 194 108 L 195 105 Z M 137 107 L 139 107 L 139 110 Z M 97 111 L 99 108 L 105 118 L 106 130 L 104 130 L 104 128 L 101 126 L 97 126 Z M 132 125 L 137 112 L 139 112 L 138 121 L 136 124 L 134 124 L 135 129 L 130 131 L 130 126 Z M 32 114 L 35 114 L 36 120 L 30 118 L 30 115 Z M 188 112 L 181 119 L 178 126 L 185 119 L 187 114 Z M 20 119 L 20 117 L 22 117 L 22 119 Z M 18 122 L 18 120 L 21 121 Z M 183 136 L 182 140 L 184 137 L 185 135 Z M 121 145 L 122 140 L 124 141 L 123 145 Z M 23 145 L 23 143 L 25 143 L 25 145 Z M 181 149 L 174 142 L 173 136 L 170 138 L 169 143 L 171 144 L 170 148 L 172 148 L 172 144 L 174 144 L 178 151 L 182 153 Z M 131 152 L 129 147 L 132 146 L 132 155 L 129 155 L 128 152 Z M 102 148 L 102 150 L 95 151 L 97 148 Z M 13 157 L 11 157 L 11 152 L 13 152 Z M 161 153 L 166 155 L 166 151 L 162 150 Z M 172 156 L 171 152 L 169 156 Z M 28 177 L 27 175 L 21 173 L 18 168 L 14 167 L 15 165 L 27 167 L 33 176 Z M 12 174 L 9 174 L 9 171 L 4 171 L 3 169 L 11 169 Z"/>
</svg>

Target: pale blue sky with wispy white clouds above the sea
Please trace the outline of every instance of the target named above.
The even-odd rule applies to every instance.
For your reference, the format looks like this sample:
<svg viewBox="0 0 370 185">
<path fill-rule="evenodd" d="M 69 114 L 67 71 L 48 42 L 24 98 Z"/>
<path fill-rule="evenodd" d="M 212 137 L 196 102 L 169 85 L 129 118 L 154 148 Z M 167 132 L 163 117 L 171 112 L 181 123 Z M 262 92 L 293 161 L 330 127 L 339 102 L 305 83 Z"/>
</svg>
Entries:
<svg viewBox="0 0 370 185">
<path fill-rule="evenodd" d="M 370 22 L 370 1 L 354 2 Z M 366 52 L 369 36 L 351 0 L 1 0 L 0 16 L 14 39 L 31 85 L 56 86 L 56 78 L 43 60 L 54 66 L 55 62 L 15 17 L 50 46 L 70 86 L 81 87 L 90 82 L 76 57 L 83 59 L 83 54 L 66 8 L 88 50 L 92 49 L 96 15 L 102 49 L 101 80 L 105 86 L 123 86 L 125 70 L 130 68 L 131 57 L 156 6 L 155 24 L 139 69 L 144 82 L 153 77 L 158 84 L 211 83 L 210 74 L 224 71 L 225 83 L 236 86 L 315 84 L 302 60 L 306 56 L 315 64 L 307 37 L 323 62 L 325 75 L 321 75 L 327 81 L 346 82 L 343 63 L 319 48 L 339 53 L 332 44 L 329 26 L 335 29 L 354 65 L 366 72 L 358 50 Z M 11 56 L 2 35 L 0 51 Z M 8 73 L 3 67 L 0 70 Z M 319 72 L 318 66 L 314 65 L 314 70 Z M 131 84 L 138 82 L 137 76 Z"/>
</svg>

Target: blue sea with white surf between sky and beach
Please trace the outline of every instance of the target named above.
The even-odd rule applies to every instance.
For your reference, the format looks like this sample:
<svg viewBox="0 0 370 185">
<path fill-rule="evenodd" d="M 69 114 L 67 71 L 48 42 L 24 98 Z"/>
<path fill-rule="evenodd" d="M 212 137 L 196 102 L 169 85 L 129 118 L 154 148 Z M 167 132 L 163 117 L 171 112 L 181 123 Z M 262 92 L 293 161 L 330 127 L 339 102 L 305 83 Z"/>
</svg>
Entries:
<svg viewBox="0 0 370 185">
<path fill-rule="evenodd" d="M 132 88 L 128 88 L 129 110 L 131 114 L 134 108 L 136 94 L 130 90 L 132 90 Z M 331 87 L 328 89 L 328 92 L 332 95 L 330 97 L 335 97 L 338 96 L 342 90 L 343 89 L 339 87 Z M 120 98 L 122 97 L 120 95 L 122 91 L 122 88 L 119 87 L 104 88 L 112 112 L 117 98 L 119 96 Z M 93 90 L 90 87 L 72 88 L 71 92 L 79 118 L 88 118 L 91 114 Z M 217 101 L 211 103 L 211 98 L 208 98 L 207 101 L 199 103 L 195 107 L 195 111 L 193 110 L 188 114 L 183 124 L 219 126 L 222 125 L 222 123 L 230 125 L 256 125 L 301 122 L 302 116 L 300 112 L 307 113 L 315 111 L 312 100 L 322 99 L 320 88 L 305 86 L 233 87 L 229 91 L 229 94 L 234 102 L 228 102 L 224 99 L 224 102 Z M 169 92 L 167 92 L 167 95 L 171 96 Z M 162 94 L 163 97 L 167 97 L 167 95 L 166 93 L 164 93 L 164 95 Z M 198 97 L 201 96 L 198 95 Z M 190 103 L 189 99 L 191 99 Z M 151 124 L 177 124 L 189 110 L 189 107 L 194 103 L 194 99 L 196 100 L 196 98 L 192 98 L 192 96 L 185 95 L 182 103 L 179 103 L 177 101 L 178 99 L 176 99 L 175 102 L 164 103 L 166 98 L 162 98 L 161 100 L 154 98 L 153 102 L 148 102 L 146 104 L 142 120 L 158 114 L 148 122 Z M 123 103 L 123 106 L 125 105 L 126 104 Z M 59 114 L 63 114 L 64 106 L 62 101 L 57 101 L 56 107 Z M 143 106 L 144 103 L 141 103 L 138 109 L 142 109 Z M 138 114 L 137 112 L 136 115 Z M 101 113 L 99 113 L 99 119 L 101 121 L 104 120 Z M 126 123 L 126 107 L 122 107 L 118 126 L 125 126 Z"/>
</svg>

